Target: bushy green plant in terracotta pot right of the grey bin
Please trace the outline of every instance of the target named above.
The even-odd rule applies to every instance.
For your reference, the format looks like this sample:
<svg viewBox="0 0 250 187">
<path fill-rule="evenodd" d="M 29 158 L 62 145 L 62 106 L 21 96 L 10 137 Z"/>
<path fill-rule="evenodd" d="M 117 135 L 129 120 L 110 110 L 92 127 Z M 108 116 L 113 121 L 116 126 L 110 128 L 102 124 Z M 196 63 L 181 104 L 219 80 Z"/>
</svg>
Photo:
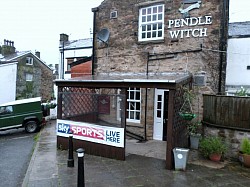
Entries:
<svg viewBox="0 0 250 187">
<path fill-rule="evenodd" d="M 219 162 L 227 151 L 227 145 L 220 137 L 208 136 L 201 139 L 200 151 L 204 157 Z"/>
</svg>

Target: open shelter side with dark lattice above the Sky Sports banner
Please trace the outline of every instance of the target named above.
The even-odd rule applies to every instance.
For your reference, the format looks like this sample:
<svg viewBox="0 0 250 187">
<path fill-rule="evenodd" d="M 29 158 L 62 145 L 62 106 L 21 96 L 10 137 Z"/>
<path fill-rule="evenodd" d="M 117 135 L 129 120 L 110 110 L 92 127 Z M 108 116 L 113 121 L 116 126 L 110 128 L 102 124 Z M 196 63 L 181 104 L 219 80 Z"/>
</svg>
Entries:
<svg viewBox="0 0 250 187">
<path fill-rule="evenodd" d="M 125 95 L 117 93 L 117 89 L 64 87 L 59 91 L 62 98 L 62 119 L 121 126 L 119 116 L 124 109 L 118 109 L 117 103 L 125 101 Z"/>
</svg>

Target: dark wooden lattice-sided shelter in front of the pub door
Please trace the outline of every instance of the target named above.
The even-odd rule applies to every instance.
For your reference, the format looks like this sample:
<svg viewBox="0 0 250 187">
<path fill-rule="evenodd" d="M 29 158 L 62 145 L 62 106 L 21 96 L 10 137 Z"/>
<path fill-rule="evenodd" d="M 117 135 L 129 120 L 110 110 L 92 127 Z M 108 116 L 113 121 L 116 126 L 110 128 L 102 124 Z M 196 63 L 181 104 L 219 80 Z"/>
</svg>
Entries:
<svg viewBox="0 0 250 187">
<path fill-rule="evenodd" d="M 145 140 L 165 143 L 166 168 L 172 169 L 173 148 L 188 145 L 179 110 L 183 87 L 190 86 L 191 80 L 188 73 L 114 73 L 56 80 L 57 147 L 67 149 L 73 131 L 74 149 L 83 147 L 86 154 L 125 160 L 127 128 L 135 134 L 145 129 L 141 135 Z M 129 88 L 136 88 L 134 94 Z M 128 117 L 139 123 L 130 124 Z"/>
</svg>

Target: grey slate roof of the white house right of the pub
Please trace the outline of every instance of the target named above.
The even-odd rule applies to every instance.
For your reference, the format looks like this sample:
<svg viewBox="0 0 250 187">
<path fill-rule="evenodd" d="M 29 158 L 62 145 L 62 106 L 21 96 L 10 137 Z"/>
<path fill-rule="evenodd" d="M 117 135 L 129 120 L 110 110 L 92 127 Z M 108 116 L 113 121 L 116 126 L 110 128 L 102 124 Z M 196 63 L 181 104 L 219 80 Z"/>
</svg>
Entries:
<svg viewBox="0 0 250 187">
<path fill-rule="evenodd" d="M 229 23 L 229 37 L 250 36 L 250 21 Z"/>
</svg>

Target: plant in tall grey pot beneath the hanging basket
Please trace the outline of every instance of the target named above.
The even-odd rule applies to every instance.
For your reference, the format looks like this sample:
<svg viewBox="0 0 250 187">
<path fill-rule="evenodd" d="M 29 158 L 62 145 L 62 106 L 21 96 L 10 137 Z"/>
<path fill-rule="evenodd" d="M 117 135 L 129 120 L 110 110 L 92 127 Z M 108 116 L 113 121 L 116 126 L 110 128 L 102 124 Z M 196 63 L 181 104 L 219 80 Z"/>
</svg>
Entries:
<svg viewBox="0 0 250 187">
<path fill-rule="evenodd" d="M 188 135 L 190 138 L 190 148 L 198 149 L 199 141 L 201 139 L 201 122 L 200 121 L 191 121 L 187 125 Z"/>
</svg>

